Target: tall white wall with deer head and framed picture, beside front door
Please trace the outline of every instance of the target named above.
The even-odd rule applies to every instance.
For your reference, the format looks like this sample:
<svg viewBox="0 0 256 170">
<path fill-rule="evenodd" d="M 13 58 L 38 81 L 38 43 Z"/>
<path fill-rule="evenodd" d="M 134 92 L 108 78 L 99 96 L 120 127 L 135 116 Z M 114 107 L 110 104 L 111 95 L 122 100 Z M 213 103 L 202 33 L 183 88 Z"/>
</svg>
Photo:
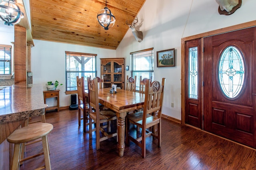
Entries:
<svg viewBox="0 0 256 170">
<path fill-rule="evenodd" d="M 224 16 L 215 0 L 147 0 L 137 15 L 138 24 L 143 19 L 143 41 L 136 42 L 128 30 L 116 56 L 126 57 L 130 65 L 130 52 L 154 47 L 154 79 L 166 78 L 162 113 L 181 120 L 181 38 L 256 20 L 255 6 L 255 0 L 243 0 L 234 14 Z M 176 49 L 176 66 L 156 67 L 156 52 L 171 48 Z"/>
</svg>

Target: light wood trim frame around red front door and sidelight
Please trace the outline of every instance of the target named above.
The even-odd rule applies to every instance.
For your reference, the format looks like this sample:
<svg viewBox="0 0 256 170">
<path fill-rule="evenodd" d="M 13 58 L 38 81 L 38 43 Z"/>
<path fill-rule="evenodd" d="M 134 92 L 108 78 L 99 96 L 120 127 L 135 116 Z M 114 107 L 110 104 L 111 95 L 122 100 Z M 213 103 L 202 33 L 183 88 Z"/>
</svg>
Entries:
<svg viewBox="0 0 256 170">
<path fill-rule="evenodd" d="M 205 32 L 202 34 L 197 34 L 194 36 L 189 36 L 189 37 L 185 37 L 181 39 L 181 124 L 185 125 L 185 113 L 186 113 L 186 106 L 185 106 L 185 102 L 186 102 L 186 94 L 185 92 L 187 91 L 185 89 L 185 73 L 186 73 L 186 63 L 185 63 L 185 52 L 186 52 L 186 41 L 189 40 L 194 40 L 194 39 L 198 39 L 201 38 L 201 47 L 203 47 L 203 38 L 207 37 L 207 36 L 214 36 L 217 34 L 222 34 L 222 33 L 226 33 L 226 32 L 231 32 L 231 31 L 235 31 L 235 30 L 240 30 L 240 29 L 244 29 L 244 28 L 249 28 L 249 27 L 253 27 L 256 26 L 256 20 L 255 21 L 251 21 L 251 22 L 246 22 L 243 24 L 238 24 L 235 26 L 230 26 L 230 27 L 226 27 L 226 28 L 221 28 L 218 30 L 214 30 L 214 31 L 210 31 L 210 32 Z M 203 50 L 202 50 L 203 51 Z M 203 57 L 203 54 L 202 54 Z M 198 82 L 198 85 L 202 85 L 202 82 Z M 203 88 L 202 88 L 203 89 Z M 203 94 L 203 93 L 201 93 Z M 202 112 L 203 113 L 203 112 Z"/>
</svg>

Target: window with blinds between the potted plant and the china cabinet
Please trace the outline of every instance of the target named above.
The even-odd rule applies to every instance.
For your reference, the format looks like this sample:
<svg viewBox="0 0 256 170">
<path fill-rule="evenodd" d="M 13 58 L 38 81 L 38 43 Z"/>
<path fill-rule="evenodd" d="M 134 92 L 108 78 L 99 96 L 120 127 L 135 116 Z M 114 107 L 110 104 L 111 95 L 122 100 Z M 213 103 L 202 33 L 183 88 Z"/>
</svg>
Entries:
<svg viewBox="0 0 256 170">
<path fill-rule="evenodd" d="M 76 88 L 76 76 L 84 77 L 84 89 L 87 88 L 87 77 L 92 79 L 97 74 L 97 54 L 66 53 L 66 91 L 74 91 Z"/>
</svg>

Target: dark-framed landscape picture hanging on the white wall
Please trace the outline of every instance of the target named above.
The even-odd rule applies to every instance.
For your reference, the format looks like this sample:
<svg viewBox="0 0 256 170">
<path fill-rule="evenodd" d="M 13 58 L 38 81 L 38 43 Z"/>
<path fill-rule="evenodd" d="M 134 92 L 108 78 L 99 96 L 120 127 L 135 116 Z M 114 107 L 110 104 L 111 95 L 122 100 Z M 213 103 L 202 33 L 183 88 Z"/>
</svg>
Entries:
<svg viewBox="0 0 256 170">
<path fill-rule="evenodd" d="M 175 49 L 156 52 L 157 67 L 175 67 Z"/>
</svg>

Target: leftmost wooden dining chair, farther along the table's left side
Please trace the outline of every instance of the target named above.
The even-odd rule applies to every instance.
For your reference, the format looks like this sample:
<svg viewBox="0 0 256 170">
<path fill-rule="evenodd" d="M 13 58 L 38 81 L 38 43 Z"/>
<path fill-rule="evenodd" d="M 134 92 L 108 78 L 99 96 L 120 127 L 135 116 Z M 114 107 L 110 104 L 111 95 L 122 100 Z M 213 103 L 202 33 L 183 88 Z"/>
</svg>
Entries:
<svg viewBox="0 0 256 170">
<path fill-rule="evenodd" d="M 79 78 L 76 76 L 77 84 L 77 95 L 78 95 L 78 126 L 81 126 L 81 120 L 86 121 L 86 117 L 89 113 L 88 97 L 85 95 L 84 91 L 84 77 Z M 81 111 L 83 112 L 83 117 L 81 117 Z M 84 132 L 86 131 L 86 126 L 83 127 Z"/>
</svg>

